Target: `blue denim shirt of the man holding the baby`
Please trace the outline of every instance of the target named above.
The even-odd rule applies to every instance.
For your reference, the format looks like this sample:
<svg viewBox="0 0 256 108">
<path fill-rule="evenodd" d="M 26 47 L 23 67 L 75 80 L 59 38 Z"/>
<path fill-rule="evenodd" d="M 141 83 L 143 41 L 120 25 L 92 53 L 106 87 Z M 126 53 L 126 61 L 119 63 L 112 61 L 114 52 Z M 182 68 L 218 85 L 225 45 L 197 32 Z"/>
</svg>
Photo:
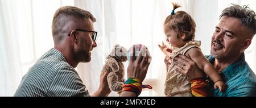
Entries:
<svg viewBox="0 0 256 108">
<path fill-rule="evenodd" d="M 214 58 L 206 56 L 209 62 L 213 65 Z M 213 82 L 210 81 L 211 92 L 217 97 L 248 97 L 256 96 L 256 76 L 253 70 L 245 61 L 243 53 L 234 63 L 225 68 L 220 76 L 226 83 L 228 88 L 225 92 L 218 92 L 218 89 L 213 88 Z"/>
</svg>

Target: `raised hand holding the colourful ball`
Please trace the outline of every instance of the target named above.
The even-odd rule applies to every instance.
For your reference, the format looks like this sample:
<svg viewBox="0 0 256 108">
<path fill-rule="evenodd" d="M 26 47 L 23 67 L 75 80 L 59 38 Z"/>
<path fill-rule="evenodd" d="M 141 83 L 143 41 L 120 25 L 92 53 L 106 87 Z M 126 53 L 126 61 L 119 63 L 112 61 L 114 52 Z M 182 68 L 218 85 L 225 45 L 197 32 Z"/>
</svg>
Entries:
<svg viewBox="0 0 256 108">
<path fill-rule="evenodd" d="M 146 51 L 142 51 L 146 49 Z M 142 56 L 142 52 L 146 52 L 146 56 Z M 135 59 L 135 45 L 133 45 L 133 49 L 131 49 L 130 62 L 127 67 L 127 77 L 138 78 L 143 82 L 144 78 L 147 74 L 148 66 L 150 65 L 151 57 L 148 54 L 147 48 L 141 48 L 139 52 L 139 56 Z"/>
</svg>

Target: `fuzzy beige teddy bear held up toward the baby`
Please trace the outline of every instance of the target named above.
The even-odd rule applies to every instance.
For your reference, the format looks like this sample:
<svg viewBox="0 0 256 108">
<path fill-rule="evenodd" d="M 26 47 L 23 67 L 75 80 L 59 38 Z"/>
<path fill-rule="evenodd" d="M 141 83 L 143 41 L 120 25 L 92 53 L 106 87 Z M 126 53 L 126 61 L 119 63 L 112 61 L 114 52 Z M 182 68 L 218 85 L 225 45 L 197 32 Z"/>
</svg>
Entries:
<svg viewBox="0 0 256 108">
<path fill-rule="evenodd" d="M 106 57 L 105 65 L 101 72 L 109 72 L 107 76 L 109 88 L 112 91 L 121 93 L 122 85 L 125 82 L 125 67 L 127 61 L 127 49 L 117 44 L 114 45 L 110 54 Z"/>
</svg>

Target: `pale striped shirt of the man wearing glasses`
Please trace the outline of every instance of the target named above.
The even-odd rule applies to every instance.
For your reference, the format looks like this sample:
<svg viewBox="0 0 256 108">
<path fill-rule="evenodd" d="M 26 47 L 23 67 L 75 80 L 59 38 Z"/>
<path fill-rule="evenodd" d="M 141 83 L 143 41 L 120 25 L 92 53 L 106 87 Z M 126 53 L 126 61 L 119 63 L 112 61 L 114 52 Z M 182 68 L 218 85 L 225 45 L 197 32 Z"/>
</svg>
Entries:
<svg viewBox="0 0 256 108">
<path fill-rule="evenodd" d="M 14 96 L 90 96 L 76 70 L 55 48 L 44 53 L 22 78 Z"/>
</svg>

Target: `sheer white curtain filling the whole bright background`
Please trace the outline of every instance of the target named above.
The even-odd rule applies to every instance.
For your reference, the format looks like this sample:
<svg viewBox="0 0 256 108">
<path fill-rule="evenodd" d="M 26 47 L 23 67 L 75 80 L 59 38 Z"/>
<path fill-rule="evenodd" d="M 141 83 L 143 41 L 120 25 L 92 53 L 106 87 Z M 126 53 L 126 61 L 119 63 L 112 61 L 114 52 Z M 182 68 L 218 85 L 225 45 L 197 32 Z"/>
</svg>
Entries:
<svg viewBox="0 0 256 108">
<path fill-rule="evenodd" d="M 205 55 L 210 52 L 210 38 L 218 23 L 221 11 L 230 3 L 249 5 L 256 11 L 256 1 L 212 0 L 0 0 L 0 96 L 12 96 L 27 70 L 53 47 L 51 35 L 52 17 L 60 6 L 72 5 L 90 11 L 97 22 L 97 48 L 92 51 L 92 61 L 80 63 L 76 70 L 92 94 L 98 89 L 100 72 L 105 57 L 113 45 L 127 49 L 133 44 L 144 44 L 150 50 L 152 61 L 144 84 L 153 89 L 144 89 L 141 96 L 164 96 L 164 55 L 158 44 L 165 41 L 164 19 L 171 13 L 171 2 L 195 20 L 196 40 L 201 40 Z M 246 61 L 256 72 L 255 38 L 246 49 Z M 127 62 L 125 68 L 127 68 Z M 112 92 L 110 96 L 118 96 Z"/>
</svg>

